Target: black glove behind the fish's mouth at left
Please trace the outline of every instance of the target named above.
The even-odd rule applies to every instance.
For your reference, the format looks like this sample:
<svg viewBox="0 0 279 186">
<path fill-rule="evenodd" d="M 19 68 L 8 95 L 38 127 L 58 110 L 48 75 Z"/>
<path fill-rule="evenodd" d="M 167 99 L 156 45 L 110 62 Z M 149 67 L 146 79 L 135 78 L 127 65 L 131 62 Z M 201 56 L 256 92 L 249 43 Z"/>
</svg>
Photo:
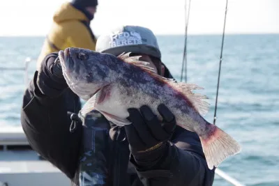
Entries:
<svg viewBox="0 0 279 186">
<path fill-rule="evenodd" d="M 43 95 L 58 97 L 68 87 L 63 77 L 57 53 L 47 54 L 38 70 L 37 85 Z"/>
</svg>

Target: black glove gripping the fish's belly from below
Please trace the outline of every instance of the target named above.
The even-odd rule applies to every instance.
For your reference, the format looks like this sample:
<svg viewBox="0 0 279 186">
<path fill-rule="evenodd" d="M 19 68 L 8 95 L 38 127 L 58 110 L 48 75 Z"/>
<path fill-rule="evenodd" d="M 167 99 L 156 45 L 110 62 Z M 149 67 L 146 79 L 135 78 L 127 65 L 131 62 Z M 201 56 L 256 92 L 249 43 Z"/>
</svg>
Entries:
<svg viewBox="0 0 279 186">
<path fill-rule="evenodd" d="M 137 109 L 128 109 L 131 125 L 125 125 L 130 152 L 138 169 L 154 169 L 167 155 L 168 140 L 176 127 L 174 115 L 165 104 L 158 107 L 163 121 L 160 122 L 146 105 Z"/>
</svg>

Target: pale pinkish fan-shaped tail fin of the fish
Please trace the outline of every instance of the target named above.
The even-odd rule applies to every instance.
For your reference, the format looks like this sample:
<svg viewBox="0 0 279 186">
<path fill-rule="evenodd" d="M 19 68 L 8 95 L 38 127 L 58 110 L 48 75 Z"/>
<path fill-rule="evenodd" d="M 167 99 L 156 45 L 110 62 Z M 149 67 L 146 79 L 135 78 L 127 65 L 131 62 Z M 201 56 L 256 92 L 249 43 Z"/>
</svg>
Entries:
<svg viewBox="0 0 279 186">
<path fill-rule="evenodd" d="M 210 125 L 212 128 L 210 134 L 206 138 L 199 137 L 199 139 L 201 139 L 207 165 L 209 169 L 213 169 L 213 166 L 217 167 L 227 157 L 239 153 L 241 146 L 216 125 Z"/>
</svg>

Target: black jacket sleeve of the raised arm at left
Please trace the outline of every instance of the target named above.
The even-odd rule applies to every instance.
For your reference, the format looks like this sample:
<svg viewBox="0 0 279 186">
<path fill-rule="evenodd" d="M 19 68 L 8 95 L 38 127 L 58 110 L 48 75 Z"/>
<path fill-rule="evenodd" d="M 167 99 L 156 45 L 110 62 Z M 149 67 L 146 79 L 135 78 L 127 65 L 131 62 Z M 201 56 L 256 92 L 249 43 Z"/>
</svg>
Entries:
<svg viewBox="0 0 279 186">
<path fill-rule="evenodd" d="M 58 98 L 47 98 L 36 85 L 38 72 L 24 92 L 21 123 L 30 146 L 43 158 L 73 178 L 77 166 L 80 132 L 70 132 L 70 116 L 80 106 L 65 91 Z M 77 152 L 77 153 L 75 153 Z"/>
</svg>

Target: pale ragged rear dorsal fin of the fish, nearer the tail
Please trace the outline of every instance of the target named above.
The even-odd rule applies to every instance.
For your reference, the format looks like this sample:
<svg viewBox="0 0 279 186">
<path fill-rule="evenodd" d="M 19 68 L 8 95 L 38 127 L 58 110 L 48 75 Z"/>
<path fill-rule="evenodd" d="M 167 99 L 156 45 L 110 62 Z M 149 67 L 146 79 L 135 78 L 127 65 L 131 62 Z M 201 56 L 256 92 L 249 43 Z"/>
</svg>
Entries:
<svg viewBox="0 0 279 186">
<path fill-rule="evenodd" d="M 204 99 L 208 99 L 207 96 L 200 93 L 193 93 L 193 90 L 201 90 L 204 88 L 197 86 L 197 84 L 187 84 L 184 82 L 175 82 L 172 85 L 190 100 L 199 114 L 204 116 L 209 111 L 209 103 L 204 101 Z"/>
</svg>

